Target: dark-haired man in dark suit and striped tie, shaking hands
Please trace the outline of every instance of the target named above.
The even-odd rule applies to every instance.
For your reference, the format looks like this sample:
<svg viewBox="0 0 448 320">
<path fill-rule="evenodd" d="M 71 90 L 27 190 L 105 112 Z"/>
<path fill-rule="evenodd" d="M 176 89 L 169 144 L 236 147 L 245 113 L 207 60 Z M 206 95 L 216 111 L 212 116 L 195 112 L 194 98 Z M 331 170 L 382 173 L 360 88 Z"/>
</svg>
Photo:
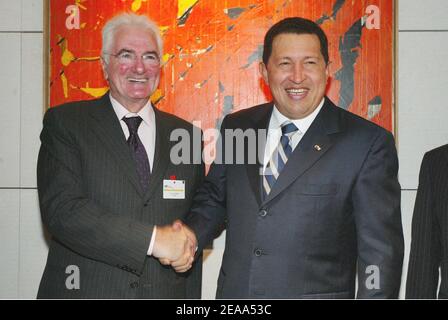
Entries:
<svg viewBox="0 0 448 320">
<path fill-rule="evenodd" d="M 222 162 L 212 164 L 184 221 L 199 251 L 226 225 L 217 298 L 354 298 L 356 275 L 359 298 L 398 296 L 394 139 L 325 97 L 328 62 L 318 25 L 278 22 L 260 64 L 274 101 L 223 120 Z M 244 146 L 229 141 L 238 131 Z M 254 146 L 260 159 L 250 163 Z"/>
</svg>

